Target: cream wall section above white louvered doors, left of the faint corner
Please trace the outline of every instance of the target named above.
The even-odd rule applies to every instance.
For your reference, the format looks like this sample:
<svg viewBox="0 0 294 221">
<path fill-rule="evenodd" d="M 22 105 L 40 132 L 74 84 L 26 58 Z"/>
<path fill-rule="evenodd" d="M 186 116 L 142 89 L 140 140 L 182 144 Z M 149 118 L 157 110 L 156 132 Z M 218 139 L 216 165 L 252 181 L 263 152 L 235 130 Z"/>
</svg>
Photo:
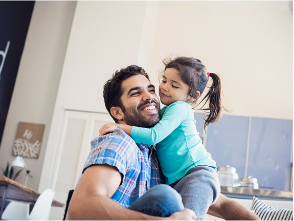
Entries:
<svg viewBox="0 0 294 221">
<path fill-rule="evenodd" d="M 145 8 L 145 1 L 78 1 L 59 91 L 66 109 L 105 111 L 104 82 L 137 61 Z"/>
</svg>

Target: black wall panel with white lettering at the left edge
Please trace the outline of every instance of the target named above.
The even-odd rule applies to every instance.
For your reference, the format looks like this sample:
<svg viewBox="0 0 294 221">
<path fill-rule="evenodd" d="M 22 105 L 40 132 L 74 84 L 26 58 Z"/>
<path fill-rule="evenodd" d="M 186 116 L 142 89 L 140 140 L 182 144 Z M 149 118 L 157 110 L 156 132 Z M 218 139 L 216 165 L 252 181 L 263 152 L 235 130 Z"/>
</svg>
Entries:
<svg viewBox="0 0 294 221">
<path fill-rule="evenodd" d="M 0 143 L 34 4 L 0 1 Z"/>
</svg>

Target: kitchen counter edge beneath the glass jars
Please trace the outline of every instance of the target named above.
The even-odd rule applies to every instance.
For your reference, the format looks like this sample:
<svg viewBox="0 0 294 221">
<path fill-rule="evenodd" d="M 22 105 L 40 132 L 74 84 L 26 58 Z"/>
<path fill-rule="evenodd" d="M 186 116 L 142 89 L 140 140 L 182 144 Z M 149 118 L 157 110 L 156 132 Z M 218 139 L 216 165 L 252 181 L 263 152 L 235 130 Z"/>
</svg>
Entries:
<svg viewBox="0 0 294 221">
<path fill-rule="evenodd" d="M 256 196 L 258 199 L 293 201 L 293 192 L 290 191 L 221 186 L 221 193 L 226 197 L 238 199 L 252 199 L 253 196 Z"/>
</svg>

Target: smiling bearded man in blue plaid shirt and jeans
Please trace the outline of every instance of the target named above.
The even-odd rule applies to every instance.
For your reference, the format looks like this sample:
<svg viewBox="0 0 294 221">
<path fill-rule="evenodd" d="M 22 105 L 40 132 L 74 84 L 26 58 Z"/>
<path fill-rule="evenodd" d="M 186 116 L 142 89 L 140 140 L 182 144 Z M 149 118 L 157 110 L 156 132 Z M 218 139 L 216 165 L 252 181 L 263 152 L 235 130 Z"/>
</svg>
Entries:
<svg viewBox="0 0 294 221">
<path fill-rule="evenodd" d="M 155 87 L 138 66 L 116 71 L 104 86 L 104 101 L 116 123 L 151 128 L 160 108 Z M 161 184 L 156 151 L 135 144 L 122 130 L 95 138 L 68 207 L 68 220 L 195 220 L 181 196 Z M 258 220 L 221 195 L 208 211 L 227 220 Z"/>
</svg>

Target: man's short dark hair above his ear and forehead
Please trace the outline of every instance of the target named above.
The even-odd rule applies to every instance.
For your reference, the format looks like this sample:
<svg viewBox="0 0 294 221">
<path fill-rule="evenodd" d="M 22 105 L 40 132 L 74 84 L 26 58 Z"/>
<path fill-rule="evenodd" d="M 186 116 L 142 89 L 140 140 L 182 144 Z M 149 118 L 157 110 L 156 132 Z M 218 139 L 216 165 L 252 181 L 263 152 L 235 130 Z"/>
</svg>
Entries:
<svg viewBox="0 0 294 221">
<path fill-rule="evenodd" d="M 125 107 L 123 106 L 121 102 L 121 95 L 122 95 L 121 84 L 127 78 L 137 74 L 144 75 L 149 80 L 148 74 L 145 72 L 145 70 L 142 67 L 132 65 L 132 66 L 128 66 L 126 68 L 122 68 L 120 70 L 115 71 L 115 73 L 113 74 L 113 77 L 109 79 L 107 82 L 105 82 L 104 84 L 104 88 L 103 88 L 104 104 L 109 114 L 115 121 L 115 123 L 118 123 L 118 121 L 115 117 L 113 117 L 110 109 L 112 107 L 120 107 L 122 111 L 125 111 Z"/>
</svg>

